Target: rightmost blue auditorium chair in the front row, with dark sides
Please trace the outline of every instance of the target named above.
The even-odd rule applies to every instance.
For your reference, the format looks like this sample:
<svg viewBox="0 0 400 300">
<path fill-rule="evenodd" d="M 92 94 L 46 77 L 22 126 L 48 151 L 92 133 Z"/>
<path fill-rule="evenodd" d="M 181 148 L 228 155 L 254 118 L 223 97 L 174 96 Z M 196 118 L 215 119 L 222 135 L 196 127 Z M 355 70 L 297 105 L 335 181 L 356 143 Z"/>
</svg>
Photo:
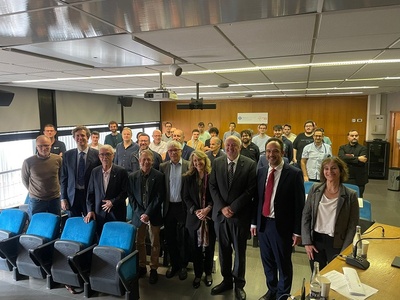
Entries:
<svg viewBox="0 0 400 300">
<path fill-rule="evenodd" d="M 84 296 L 92 291 L 139 299 L 136 228 L 126 222 L 104 224 L 99 244 L 70 256 L 71 267 L 84 280 Z"/>
</svg>

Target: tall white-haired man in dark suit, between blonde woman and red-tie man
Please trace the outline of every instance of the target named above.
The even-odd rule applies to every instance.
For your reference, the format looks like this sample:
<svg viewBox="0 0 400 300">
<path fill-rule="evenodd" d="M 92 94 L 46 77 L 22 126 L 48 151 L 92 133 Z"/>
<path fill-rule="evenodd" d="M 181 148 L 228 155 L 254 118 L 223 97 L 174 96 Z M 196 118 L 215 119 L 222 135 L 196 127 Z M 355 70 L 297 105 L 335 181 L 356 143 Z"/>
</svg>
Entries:
<svg viewBox="0 0 400 300">
<path fill-rule="evenodd" d="M 210 192 L 214 201 L 212 217 L 224 278 L 211 290 L 211 294 L 232 289 L 234 282 L 236 299 L 246 299 L 243 289 L 246 284 L 246 243 L 256 190 L 256 163 L 240 155 L 240 146 L 238 137 L 229 136 L 225 140 L 227 157 L 214 160 L 210 176 Z M 235 251 L 233 271 L 232 250 Z"/>
</svg>

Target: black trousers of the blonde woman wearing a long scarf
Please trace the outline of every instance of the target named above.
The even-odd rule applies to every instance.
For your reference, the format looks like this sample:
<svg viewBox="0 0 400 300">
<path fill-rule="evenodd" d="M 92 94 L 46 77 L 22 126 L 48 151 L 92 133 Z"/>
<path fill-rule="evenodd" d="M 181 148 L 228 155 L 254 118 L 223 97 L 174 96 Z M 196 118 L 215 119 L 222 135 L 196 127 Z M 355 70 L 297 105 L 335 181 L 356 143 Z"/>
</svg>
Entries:
<svg viewBox="0 0 400 300">
<path fill-rule="evenodd" d="M 193 268 L 195 277 L 201 278 L 203 272 L 206 275 L 211 275 L 212 267 L 214 263 L 214 249 L 215 249 L 215 230 L 214 223 L 211 220 L 207 220 L 208 224 L 208 246 L 198 246 L 197 230 L 189 231 L 190 241 L 193 251 Z"/>
</svg>

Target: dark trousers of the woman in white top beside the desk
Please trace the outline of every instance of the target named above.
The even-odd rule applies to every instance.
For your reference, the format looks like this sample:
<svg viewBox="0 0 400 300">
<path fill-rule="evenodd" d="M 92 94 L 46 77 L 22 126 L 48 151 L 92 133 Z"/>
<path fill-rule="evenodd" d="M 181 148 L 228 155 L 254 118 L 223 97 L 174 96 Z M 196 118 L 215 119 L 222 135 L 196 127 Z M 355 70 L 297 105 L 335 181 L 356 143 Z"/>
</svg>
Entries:
<svg viewBox="0 0 400 300">
<path fill-rule="evenodd" d="M 310 260 L 311 271 L 314 269 L 314 261 L 319 262 L 319 269 L 322 270 L 341 250 L 340 248 L 333 248 L 333 237 L 315 231 L 313 233 L 313 244 L 318 253 L 314 252 L 314 260 Z"/>
</svg>

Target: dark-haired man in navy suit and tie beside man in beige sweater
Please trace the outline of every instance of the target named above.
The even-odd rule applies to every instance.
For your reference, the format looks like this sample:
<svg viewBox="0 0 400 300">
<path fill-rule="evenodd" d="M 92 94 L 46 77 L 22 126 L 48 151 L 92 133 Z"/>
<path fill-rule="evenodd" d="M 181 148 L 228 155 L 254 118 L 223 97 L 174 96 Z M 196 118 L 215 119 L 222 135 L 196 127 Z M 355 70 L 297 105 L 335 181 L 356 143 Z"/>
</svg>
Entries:
<svg viewBox="0 0 400 300">
<path fill-rule="evenodd" d="M 77 126 L 72 130 L 77 149 L 64 153 L 61 169 L 61 209 L 70 217 L 86 216 L 86 191 L 93 168 L 99 166 L 99 151 L 90 148 L 90 130 Z"/>
</svg>

